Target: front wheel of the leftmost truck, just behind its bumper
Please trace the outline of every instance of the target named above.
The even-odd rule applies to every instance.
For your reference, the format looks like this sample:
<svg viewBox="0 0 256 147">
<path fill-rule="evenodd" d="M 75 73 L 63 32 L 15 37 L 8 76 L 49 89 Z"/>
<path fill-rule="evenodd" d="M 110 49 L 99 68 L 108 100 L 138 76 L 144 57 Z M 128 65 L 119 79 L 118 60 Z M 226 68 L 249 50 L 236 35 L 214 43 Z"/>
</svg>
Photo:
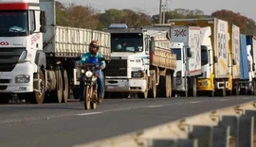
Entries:
<svg viewBox="0 0 256 147">
<path fill-rule="evenodd" d="M 45 82 L 45 75 L 44 73 L 40 70 L 39 71 L 39 85 L 40 85 L 40 88 L 39 88 L 39 92 L 36 91 L 34 94 L 35 94 L 35 99 L 36 99 L 36 102 L 37 104 L 42 104 L 44 102 L 44 99 L 45 99 L 45 87 L 46 87 L 46 82 Z"/>
</svg>

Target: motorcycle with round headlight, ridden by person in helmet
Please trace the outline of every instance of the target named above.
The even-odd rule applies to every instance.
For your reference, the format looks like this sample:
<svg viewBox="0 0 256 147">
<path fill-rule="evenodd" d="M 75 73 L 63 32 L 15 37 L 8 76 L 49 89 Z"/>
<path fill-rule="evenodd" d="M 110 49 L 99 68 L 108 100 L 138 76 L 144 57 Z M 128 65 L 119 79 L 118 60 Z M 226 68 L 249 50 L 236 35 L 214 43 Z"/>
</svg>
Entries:
<svg viewBox="0 0 256 147">
<path fill-rule="evenodd" d="M 80 73 L 84 77 L 83 105 L 84 109 L 96 109 L 98 102 L 98 82 L 101 65 L 104 58 L 90 57 L 87 63 L 79 66 Z"/>
</svg>

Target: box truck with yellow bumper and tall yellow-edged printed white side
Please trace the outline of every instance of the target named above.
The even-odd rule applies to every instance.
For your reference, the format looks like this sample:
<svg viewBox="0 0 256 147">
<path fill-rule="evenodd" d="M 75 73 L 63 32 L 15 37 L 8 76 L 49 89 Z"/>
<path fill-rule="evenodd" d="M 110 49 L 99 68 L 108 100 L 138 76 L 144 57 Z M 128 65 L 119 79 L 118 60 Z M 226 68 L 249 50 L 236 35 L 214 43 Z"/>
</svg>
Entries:
<svg viewBox="0 0 256 147">
<path fill-rule="evenodd" d="M 197 90 L 208 92 L 210 96 L 226 96 L 227 90 L 231 90 L 229 82 L 229 24 L 217 18 L 204 19 L 169 19 L 172 25 L 210 26 L 210 61 L 207 71 L 203 71 L 202 78 L 197 81 Z M 208 74 L 206 77 L 204 74 Z"/>
</svg>

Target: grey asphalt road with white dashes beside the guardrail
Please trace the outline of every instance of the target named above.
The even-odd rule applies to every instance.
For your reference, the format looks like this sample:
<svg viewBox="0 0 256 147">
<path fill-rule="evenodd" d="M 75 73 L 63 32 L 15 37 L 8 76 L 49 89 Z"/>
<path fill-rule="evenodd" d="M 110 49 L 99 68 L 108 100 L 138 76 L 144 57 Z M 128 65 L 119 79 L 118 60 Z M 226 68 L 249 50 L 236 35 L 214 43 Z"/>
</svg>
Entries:
<svg viewBox="0 0 256 147">
<path fill-rule="evenodd" d="M 0 106 L 0 146 L 72 146 L 252 100 L 249 96 L 111 99 L 96 110 L 84 110 L 79 102 L 4 105 Z"/>
</svg>

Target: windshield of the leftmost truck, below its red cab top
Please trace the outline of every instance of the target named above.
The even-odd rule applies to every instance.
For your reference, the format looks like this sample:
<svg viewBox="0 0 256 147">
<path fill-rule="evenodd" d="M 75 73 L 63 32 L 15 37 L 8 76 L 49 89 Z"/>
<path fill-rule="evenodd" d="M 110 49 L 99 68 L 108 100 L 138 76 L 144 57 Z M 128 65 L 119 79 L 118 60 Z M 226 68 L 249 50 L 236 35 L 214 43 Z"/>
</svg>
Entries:
<svg viewBox="0 0 256 147">
<path fill-rule="evenodd" d="M 27 36 L 27 10 L 0 10 L 0 36 Z"/>
</svg>

